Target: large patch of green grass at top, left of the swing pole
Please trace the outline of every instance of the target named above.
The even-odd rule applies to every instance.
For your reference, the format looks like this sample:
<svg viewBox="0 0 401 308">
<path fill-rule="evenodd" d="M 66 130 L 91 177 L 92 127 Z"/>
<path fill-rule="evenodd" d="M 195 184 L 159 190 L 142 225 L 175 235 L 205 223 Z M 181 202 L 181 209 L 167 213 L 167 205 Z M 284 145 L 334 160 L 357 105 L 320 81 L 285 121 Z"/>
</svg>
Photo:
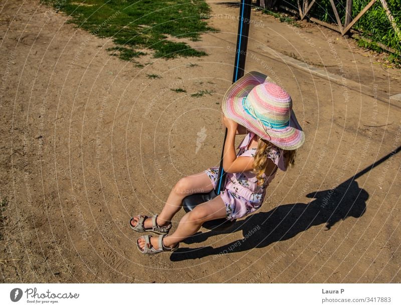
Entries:
<svg viewBox="0 0 401 308">
<path fill-rule="evenodd" d="M 216 31 L 203 16 L 210 13 L 203 0 L 42 0 L 70 16 L 69 23 L 101 38 L 112 38 L 109 49 L 122 60 L 152 50 L 156 58 L 199 57 L 207 55 L 167 36 L 198 41 L 200 34 Z"/>
</svg>

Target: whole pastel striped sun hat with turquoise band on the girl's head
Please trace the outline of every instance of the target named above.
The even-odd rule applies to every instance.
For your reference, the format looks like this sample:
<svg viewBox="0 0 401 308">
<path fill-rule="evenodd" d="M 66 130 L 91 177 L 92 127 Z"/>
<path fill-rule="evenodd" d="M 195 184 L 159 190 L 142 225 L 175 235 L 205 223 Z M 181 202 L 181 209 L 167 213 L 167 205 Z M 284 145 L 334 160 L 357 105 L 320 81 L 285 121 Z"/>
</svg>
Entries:
<svg viewBox="0 0 401 308">
<path fill-rule="evenodd" d="M 249 72 L 223 98 L 224 115 L 284 150 L 295 150 L 305 135 L 292 110 L 291 96 L 270 77 Z"/>
</svg>

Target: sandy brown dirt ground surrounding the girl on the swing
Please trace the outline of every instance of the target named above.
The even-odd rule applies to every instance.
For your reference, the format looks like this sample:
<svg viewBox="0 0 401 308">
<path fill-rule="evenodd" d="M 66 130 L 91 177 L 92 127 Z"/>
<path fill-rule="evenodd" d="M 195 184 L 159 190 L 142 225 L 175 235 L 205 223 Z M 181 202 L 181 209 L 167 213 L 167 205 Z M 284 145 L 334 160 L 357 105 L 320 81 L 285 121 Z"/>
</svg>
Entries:
<svg viewBox="0 0 401 308">
<path fill-rule="evenodd" d="M 238 8 L 209 3 L 220 32 L 189 42 L 209 56 L 148 55 L 138 68 L 39 1 L 2 2 L 3 282 L 401 282 L 401 102 L 389 100 L 400 71 L 328 29 L 259 12 L 246 70 L 291 94 L 306 135 L 296 165 L 231 229 L 202 228 L 172 254 L 136 249 L 129 218 L 159 212 L 178 179 L 219 162 Z"/>
</svg>

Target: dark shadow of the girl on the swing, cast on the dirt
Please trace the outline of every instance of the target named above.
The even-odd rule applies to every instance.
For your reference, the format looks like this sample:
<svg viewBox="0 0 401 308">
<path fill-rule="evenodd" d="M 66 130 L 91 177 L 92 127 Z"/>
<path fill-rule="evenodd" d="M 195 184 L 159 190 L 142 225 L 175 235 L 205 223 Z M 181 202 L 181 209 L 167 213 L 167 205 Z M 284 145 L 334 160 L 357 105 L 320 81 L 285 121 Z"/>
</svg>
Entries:
<svg viewBox="0 0 401 308">
<path fill-rule="evenodd" d="M 211 246 L 180 248 L 171 254 L 170 259 L 180 261 L 262 248 L 292 238 L 311 226 L 320 224 L 326 224 L 326 230 L 329 230 L 336 222 L 347 217 L 362 216 L 366 210 L 365 201 L 369 194 L 359 188 L 358 183 L 352 178 L 334 189 L 312 192 L 306 197 L 315 200 L 308 204 L 280 205 L 269 212 L 255 213 L 246 219 L 236 221 L 224 231 L 198 232 L 184 242 L 187 244 L 203 242 L 210 236 L 239 230 L 242 230 L 244 238 L 217 248 Z"/>
</svg>

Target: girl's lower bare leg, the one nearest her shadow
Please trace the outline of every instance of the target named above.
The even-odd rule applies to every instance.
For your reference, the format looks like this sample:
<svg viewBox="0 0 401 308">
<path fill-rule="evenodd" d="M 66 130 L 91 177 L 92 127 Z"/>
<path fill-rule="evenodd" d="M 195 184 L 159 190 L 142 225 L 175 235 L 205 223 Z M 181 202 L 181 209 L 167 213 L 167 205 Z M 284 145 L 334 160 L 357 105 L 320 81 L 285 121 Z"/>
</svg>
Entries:
<svg viewBox="0 0 401 308">
<path fill-rule="evenodd" d="M 225 217 L 226 205 L 224 204 L 222 197 L 219 195 L 208 202 L 199 204 L 191 212 L 186 213 L 181 218 L 175 232 L 163 238 L 163 244 L 166 247 L 174 247 L 178 242 L 182 241 L 186 237 L 195 234 L 204 222 Z M 152 236 L 150 238 L 150 243 L 155 249 L 159 248 L 157 236 Z M 143 238 L 139 238 L 138 244 L 141 249 L 143 249 L 145 246 L 145 240 Z"/>
</svg>

